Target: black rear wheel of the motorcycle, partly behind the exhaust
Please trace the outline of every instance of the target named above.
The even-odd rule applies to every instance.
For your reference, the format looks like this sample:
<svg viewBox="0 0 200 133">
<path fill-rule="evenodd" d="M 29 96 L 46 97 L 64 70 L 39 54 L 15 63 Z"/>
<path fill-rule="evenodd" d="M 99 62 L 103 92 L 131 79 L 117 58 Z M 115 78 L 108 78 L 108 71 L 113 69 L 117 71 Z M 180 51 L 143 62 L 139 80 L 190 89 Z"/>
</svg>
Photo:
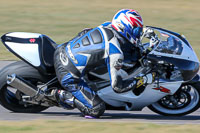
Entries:
<svg viewBox="0 0 200 133">
<path fill-rule="evenodd" d="M 19 113 L 37 113 L 47 109 L 48 107 L 27 104 L 21 100 L 22 93 L 17 91 L 17 89 L 7 85 L 7 75 L 13 73 L 28 80 L 36 86 L 45 83 L 45 78 L 42 77 L 39 72 L 30 65 L 22 61 L 12 63 L 0 71 L 1 105 L 10 111 Z"/>
</svg>

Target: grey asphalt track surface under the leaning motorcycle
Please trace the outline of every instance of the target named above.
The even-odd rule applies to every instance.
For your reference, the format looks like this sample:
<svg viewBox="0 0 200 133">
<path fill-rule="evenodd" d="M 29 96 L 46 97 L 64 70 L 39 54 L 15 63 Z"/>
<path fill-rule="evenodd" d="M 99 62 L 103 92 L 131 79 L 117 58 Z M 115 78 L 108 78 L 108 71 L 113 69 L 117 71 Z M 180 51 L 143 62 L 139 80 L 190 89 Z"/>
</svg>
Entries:
<svg viewBox="0 0 200 133">
<path fill-rule="evenodd" d="M 0 61 L 0 69 L 12 61 Z M 51 107 L 41 113 L 26 114 L 13 113 L 0 105 L 0 121 L 26 121 L 26 120 L 75 120 L 75 121 L 98 121 L 98 122 L 141 122 L 159 124 L 200 124 L 200 110 L 182 117 L 166 117 L 153 113 L 148 108 L 142 111 L 106 111 L 100 119 L 85 119 L 80 112 Z"/>
</svg>

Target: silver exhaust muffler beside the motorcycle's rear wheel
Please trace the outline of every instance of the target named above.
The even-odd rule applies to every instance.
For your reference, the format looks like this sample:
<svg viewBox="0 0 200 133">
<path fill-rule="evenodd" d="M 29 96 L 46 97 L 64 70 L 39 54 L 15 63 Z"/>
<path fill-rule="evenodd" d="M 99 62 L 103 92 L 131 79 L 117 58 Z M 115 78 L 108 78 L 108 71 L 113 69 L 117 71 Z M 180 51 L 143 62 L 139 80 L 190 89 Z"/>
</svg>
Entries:
<svg viewBox="0 0 200 133">
<path fill-rule="evenodd" d="M 25 79 L 18 77 L 16 74 L 7 76 L 7 84 L 18 89 L 24 94 L 37 99 L 38 101 L 44 98 L 44 95 L 40 93 L 40 90 L 33 84 L 27 82 Z"/>
</svg>

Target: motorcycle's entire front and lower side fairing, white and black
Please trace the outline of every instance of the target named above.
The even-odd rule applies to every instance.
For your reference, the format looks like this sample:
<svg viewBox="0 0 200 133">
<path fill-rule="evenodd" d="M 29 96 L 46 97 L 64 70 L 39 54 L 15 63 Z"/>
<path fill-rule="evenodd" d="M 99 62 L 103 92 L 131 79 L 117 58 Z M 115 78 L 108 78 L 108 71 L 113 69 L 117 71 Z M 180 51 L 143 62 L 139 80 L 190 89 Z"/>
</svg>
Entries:
<svg viewBox="0 0 200 133">
<path fill-rule="evenodd" d="M 187 40 L 178 33 L 155 27 L 151 28 L 159 33 L 161 43 L 154 47 L 147 58 L 173 64 L 176 69 L 181 71 L 184 81 L 191 80 L 196 76 L 199 69 L 199 60 Z M 169 37 L 174 38 L 175 41 Z M 166 95 L 173 95 L 184 81 L 159 80 L 161 88 L 157 87 L 157 83 L 150 84 L 139 95 L 132 91 L 118 94 L 108 86 L 99 90 L 98 95 L 112 106 L 124 106 L 126 110 L 141 110 Z"/>
</svg>

